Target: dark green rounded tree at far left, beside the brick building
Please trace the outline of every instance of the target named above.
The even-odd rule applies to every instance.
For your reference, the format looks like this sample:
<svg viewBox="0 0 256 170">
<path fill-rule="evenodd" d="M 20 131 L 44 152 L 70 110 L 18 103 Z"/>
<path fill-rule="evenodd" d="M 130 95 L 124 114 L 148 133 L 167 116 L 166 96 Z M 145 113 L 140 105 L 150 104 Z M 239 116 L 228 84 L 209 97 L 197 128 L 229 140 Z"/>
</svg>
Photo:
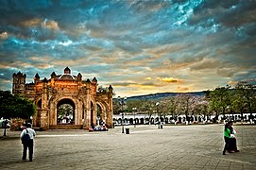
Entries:
<svg viewBox="0 0 256 170">
<path fill-rule="evenodd" d="M 9 91 L 0 91 L 0 117 L 4 119 L 23 118 L 30 119 L 36 112 L 34 103 L 17 94 L 11 94 Z M 6 136 L 6 128 L 4 132 Z"/>
</svg>

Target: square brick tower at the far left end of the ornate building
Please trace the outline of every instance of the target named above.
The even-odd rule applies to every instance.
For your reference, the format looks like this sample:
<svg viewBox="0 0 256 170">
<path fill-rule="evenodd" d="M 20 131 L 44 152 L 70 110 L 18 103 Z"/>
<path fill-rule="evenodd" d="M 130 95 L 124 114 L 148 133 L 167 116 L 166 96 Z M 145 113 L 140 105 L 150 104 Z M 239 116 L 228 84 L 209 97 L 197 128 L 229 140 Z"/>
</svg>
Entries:
<svg viewBox="0 0 256 170">
<path fill-rule="evenodd" d="M 26 87 L 26 74 L 18 72 L 13 74 L 12 93 L 25 94 Z"/>
</svg>

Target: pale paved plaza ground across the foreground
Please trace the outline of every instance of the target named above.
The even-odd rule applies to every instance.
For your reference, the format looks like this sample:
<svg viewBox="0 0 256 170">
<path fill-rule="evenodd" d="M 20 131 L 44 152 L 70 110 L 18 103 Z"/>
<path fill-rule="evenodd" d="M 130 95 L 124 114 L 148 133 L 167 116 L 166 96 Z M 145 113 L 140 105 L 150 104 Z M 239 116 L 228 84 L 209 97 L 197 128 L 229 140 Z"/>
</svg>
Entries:
<svg viewBox="0 0 256 170">
<path fill-rule="evenodd" d="M 256 126 L 235 125 L 240 152 L 227 155 L 223 125 L 128 127 L 130 134 L 121 127 L 38 131 L 32 162 L 21 160 L 20 132 L 8 131 L 0 139 L 0 169 L 256 169 Z"/>
</svg>

